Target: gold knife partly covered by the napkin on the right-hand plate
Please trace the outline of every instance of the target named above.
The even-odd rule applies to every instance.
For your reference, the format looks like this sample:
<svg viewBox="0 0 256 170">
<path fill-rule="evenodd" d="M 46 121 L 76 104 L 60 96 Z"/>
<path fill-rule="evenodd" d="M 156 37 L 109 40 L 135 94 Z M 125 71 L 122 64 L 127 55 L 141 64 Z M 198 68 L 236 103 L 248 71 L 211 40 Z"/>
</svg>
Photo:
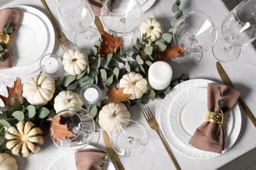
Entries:
<svg viewBox="0 0 256 170">
<path fill-rule="evenodd" d="M 219 61 L 217 61 L 216 67 L 217 67 L 219 75 L 221 76 L 221 79 L 223 80 L 224 84 L 234 88 L 230 78 L 228 78 L 228 75 L 226 75 L 226 72 L 224 71 L 224 69 L 221 66 L 221 63 L 219 63 Z M 249 107 L 247 107 L 247 105 L 244 103 L 244 101 L 241 97 L 239 97 L 238 102 L 240 103 L 241 107 L 244 109 L 245 114 L 247 114 L 247 116 L 249 117 L 251 122 L 253 122 L 253 125 L 256 127 L 256 119 L 253 116 L 253 113 L 251 112 Z"/>
</svg>

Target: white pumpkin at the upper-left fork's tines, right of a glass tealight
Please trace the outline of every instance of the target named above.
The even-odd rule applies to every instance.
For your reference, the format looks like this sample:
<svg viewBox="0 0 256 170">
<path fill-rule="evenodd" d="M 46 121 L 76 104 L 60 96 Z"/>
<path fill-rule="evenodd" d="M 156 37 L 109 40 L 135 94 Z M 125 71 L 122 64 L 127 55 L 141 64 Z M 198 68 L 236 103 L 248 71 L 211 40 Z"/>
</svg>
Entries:
<svg viewBox="0 0 256 170">
<path fill-rule="evenodd" d="M 62 63 L 64 70 L 70 75 L 79 75 L 85 71 L 88 65 L 88 56 L 80 50 L 68 50 L 63 54 Z"/>
</svg>

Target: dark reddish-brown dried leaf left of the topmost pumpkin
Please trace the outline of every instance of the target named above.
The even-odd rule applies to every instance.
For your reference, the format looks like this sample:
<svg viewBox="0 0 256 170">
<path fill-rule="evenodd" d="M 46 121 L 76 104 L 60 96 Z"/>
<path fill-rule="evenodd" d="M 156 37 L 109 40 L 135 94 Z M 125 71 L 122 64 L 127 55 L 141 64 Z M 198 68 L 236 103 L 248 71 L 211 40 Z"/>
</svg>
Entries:
<svg viewBox="0 0 256 170">
<path fill-rule="evenodd" d="M 113 54 L 114 48 L 117 49 L 117 52 L 119 51 L 122 44 L 121 37 L 114 37 L 113 35 L 110 35 L 106 31 L 102 31 L 100 35 L 102 39 L 100 48 L 98 49 L 98 53 L 100 54 L 100 57 L 106 58 L 108 54 Z"/>
</svg>

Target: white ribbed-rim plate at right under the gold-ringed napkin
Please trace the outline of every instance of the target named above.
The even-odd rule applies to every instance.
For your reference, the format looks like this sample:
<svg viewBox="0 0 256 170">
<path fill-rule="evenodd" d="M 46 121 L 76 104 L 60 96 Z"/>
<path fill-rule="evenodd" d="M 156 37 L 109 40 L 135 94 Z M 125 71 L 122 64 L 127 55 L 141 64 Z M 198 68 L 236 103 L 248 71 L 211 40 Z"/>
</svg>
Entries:
<svg viewBox="0 0 256 170">
<path fill-rule="evenodd" d="M 167 141 L 179 152 L 192 158 L 213 158 L 220 154 L 207 152 L 188 144 L 194 131 L 207 114 L 207 84 L 211 80 L 194 79 L 178 84 L 165 97 L 160 110 L 160 126 Z M 242 124 L 241 112 L 235 105 L 224 116 L 224 150 L 236 142 Z"/>
</svg>

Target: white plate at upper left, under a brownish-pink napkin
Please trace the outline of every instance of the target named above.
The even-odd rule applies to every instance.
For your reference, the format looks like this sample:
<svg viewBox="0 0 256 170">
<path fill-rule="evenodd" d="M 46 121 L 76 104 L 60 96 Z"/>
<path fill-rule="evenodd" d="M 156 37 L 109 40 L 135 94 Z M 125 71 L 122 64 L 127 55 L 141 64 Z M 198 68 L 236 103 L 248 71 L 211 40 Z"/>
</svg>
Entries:
<svg viewBox="0 0 256 170">
<path fill-rule="evenodd" d="M 55 34 L 53 25 L 43 12 L 33 7 L 12 7 L 24 12 L 19 28 L 11 37 L 12 68 L 1 69 L 8 76 L 22 76 L 39 69 L 40 58 L 53 52 Z"/>
</svg>

